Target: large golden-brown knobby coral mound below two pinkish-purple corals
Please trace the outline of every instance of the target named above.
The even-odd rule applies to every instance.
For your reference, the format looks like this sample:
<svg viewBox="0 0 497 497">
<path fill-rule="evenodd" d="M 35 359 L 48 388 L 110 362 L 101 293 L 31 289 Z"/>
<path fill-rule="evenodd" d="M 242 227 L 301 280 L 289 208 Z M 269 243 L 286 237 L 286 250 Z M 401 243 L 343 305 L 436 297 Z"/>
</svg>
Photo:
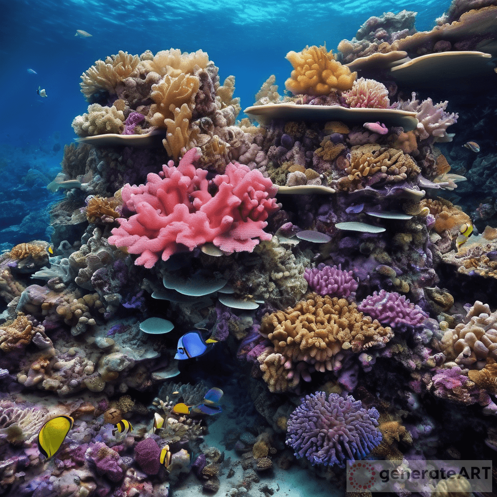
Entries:
<svg viewBox="0 0 497 497">
<path fill-rule="evenodd" d="M 316 293 L 293 309 L 266 314 L 260 332 L 273 342 L 275 352 L 322 372 L 332 370 L 332 357 L 342 349 L 360 352 L 385 344 L 394 335 L 389 327 L 358 312 L 355 304 Z"/>
</svg>

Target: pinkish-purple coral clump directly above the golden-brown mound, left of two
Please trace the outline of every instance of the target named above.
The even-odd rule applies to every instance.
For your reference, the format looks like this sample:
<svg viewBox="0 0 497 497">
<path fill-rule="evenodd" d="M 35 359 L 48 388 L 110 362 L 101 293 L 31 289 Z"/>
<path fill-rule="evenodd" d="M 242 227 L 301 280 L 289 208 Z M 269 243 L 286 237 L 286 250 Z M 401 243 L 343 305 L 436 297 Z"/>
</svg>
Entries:
<svg viewBox="0 0 497 497">
<path fill-rule="evenodd" d="M 306 269 L 304 278 L 309 286 L 320 295 L 338 298 L 355 298 L 358 283 L 352 271 L 343 271 L 341 265 L 327 266 L 323 262 L 313 269 Z"/>
</svg>

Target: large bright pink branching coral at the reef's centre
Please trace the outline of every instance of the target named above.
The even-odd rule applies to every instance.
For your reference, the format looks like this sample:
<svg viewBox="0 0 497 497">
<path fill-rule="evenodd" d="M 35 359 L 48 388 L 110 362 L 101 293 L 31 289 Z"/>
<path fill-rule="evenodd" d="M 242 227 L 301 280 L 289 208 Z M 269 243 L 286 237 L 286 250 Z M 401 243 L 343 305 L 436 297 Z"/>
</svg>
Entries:
<svg viewBox="0 0 497 497">
<path fill-rule="evenodd" d="M 266 219 L 279 209 L 277 191 L 269 178 L 248 166 L 230 163 L 225 174 L 211 182 L 207 171 L 192 164 L 199 158 L 189 150 L 175 167 L 172 161 L 160 174 L 147 175 L 147 184 L 122 188 L 126 207 L 135 211 L 129 219 L 119 218 L 109 243 L 141 254 L 135 264 L 151 268 L 173 253 L 206 242 L 226 252 L 251 252 L 264 233 Z M 208 188 L 217 187 L 212 195 Z"/>
</svg>

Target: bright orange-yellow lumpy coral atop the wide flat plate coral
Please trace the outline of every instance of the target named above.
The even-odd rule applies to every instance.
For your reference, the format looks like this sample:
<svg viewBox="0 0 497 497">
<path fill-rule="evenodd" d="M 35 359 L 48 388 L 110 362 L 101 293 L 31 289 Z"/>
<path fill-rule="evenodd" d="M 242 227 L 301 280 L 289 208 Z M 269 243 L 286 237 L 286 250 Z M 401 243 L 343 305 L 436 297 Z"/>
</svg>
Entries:
<svg viewBox="0 0 497 497">
<path fill-rule="evenodd" d="M 286 58 L 294 69 L 285 87 L 294 95 L 328 95 L 333 89 L 349 90 L 357 77 L 357 73 L 335 61 L 325 46 L 307 46 L 299 53 L 288 52 Z"/>
</svg>

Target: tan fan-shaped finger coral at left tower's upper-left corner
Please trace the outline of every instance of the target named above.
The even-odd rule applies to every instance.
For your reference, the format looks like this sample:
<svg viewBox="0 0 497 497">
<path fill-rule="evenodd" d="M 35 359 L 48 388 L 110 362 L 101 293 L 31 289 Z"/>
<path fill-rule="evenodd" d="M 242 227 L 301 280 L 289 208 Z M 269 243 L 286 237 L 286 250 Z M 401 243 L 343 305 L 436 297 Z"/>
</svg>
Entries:
<svg viewBox="0 0 497 497">
<path fill-rule="evenodd" d="M 123 81 L 135 71 L 140 62 L 138 55 L 119 51 L 117 55 L 98 60 L 85 71 L 81 77 L 81 91 L 88 102 L 94 102 L 95 95 L 107 91 L 114 94 L 117 83 Z"/>
</svg>

